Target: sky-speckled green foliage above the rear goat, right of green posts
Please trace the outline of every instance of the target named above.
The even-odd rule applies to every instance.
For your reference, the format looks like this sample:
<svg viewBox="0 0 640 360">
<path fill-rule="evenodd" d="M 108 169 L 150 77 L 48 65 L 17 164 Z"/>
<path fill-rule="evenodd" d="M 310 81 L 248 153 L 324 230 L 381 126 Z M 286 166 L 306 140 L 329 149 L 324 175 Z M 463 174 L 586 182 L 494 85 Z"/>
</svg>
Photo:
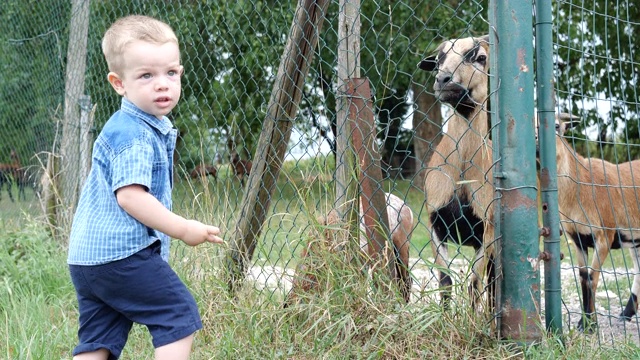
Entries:
<svg viewBox="0 0 640 360">
<path fill-rule="evenodd" d="M 589 128 L 587 134 L 596 140 L 578 141 L 579 151 L 614 162 L 638 158 L 640 53 L 635 36 L 640 6 L 635 1 L 561 1 L 555 17 L 558 103 L 582 117 L 578 132 Z"/>
</svg>

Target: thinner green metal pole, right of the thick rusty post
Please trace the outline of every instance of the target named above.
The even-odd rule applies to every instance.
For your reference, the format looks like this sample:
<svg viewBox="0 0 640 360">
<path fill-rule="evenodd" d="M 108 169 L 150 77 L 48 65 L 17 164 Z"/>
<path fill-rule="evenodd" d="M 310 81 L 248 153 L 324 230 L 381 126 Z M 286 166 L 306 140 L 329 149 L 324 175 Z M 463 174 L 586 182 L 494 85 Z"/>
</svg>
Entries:
<svg viewBox="0 0 640 360">
<path fill-rule="evenodd" d="M 540 144 L 541 234 L 544 236 L 544 298 L 547 329 L 562 333 L 560 216 L 555 142 L 553 19 L 551 0 L 536 1 L 536 93 Z"/>
</svg>

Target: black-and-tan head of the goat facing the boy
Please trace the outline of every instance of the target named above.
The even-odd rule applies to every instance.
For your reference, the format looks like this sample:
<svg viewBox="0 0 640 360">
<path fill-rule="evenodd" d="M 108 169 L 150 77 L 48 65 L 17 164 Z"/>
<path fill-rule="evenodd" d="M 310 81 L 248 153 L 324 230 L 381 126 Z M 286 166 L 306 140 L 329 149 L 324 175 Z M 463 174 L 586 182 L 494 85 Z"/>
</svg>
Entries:
<svg viewBox="0 0 640 360">
<path fill-rule="evenodd" d="M 456 110 L 469 112 L 487 101 L 489 90 L 489 36 L 447 40 L 437 54 L 418 64 L 424 71 L 437 71 L 436 96 Z"/>
</svg>

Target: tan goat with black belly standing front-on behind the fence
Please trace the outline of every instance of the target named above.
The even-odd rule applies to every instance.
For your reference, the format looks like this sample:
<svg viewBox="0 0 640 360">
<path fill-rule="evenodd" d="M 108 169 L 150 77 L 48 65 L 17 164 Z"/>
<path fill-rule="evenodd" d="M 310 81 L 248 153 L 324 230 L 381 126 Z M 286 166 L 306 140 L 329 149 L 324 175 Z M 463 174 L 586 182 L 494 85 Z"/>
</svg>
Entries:
<svg viewBox="0 0 640 360">
<path fill-rule="evenodd" d="M 493 306 L 492 145 L 487 138 L 489 116 L 489 37 L 444 41 L 438 53 L 418 63 L 424 71 L 437 71 L 433 88 L 453 115 L 448 130 L 433 151 L 425 174 L 425 203 L 431 248 L 440 273 L 442 301 L 448 306 L 451 276 L 447 241 L 472 246 L 469 292 L 479 302 L 484 270 L 489 276 L 489 304 Z"/>
</svg>

